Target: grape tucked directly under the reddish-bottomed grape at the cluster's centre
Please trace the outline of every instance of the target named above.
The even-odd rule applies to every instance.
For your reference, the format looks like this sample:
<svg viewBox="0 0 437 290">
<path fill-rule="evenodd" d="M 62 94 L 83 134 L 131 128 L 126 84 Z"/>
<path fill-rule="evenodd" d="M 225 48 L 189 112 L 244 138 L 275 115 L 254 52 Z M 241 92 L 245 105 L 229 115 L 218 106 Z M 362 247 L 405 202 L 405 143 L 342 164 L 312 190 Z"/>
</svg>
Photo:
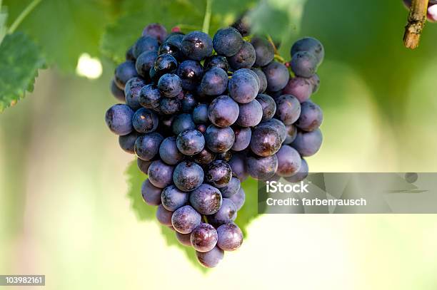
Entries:
<svg viewBox="0 0 437 290">
<path fill-rule="evenodd" d="M 235 135 L 233 130 L 229 127 L 218 128 L 214 125 L 210 125 L 206 129 L 205 133 L 206 147 L 212 152 L 223 153 L 231 149 Z"/>
</svg>

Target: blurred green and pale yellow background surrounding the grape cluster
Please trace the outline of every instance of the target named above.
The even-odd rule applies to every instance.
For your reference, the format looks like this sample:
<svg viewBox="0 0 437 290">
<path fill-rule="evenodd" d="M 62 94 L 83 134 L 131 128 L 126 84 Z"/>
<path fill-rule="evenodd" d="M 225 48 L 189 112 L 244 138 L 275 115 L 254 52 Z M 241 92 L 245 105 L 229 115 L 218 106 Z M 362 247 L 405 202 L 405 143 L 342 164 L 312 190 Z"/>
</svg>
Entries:
<svg viewBox="0 0 437 290">
<path fill-rule="evenodd" d="M 11 15 L 21 2 L 6 1 Z M 296 4 L 267 2 L 273 24 Z M 307 35 L 326 47 L 313 97 L 324 142 L 310 171 L 435 172 L 437 25 L 407 51 L 401 1 L 301 2 L 299 30 L 283 35 L 281 51 L 288 57 Z M 59 3 L 45 5 L 66 9 Z M 72 19 L 71 30 L 92 21 Z M 85 37 L 71 46 L 94 55 Z M 34 93 L 0 115 L 0 274 L 45 274 L 45 289 L 437 289 L 435 215 L 263 215 L 238 252 L 199 271 L 131 209 L 124 172 L 133 157 L 104 124 L 114 63 L 99 61 L 103 74 L 92 80 L 63 64 L 41 71 Z"/>
</svg>

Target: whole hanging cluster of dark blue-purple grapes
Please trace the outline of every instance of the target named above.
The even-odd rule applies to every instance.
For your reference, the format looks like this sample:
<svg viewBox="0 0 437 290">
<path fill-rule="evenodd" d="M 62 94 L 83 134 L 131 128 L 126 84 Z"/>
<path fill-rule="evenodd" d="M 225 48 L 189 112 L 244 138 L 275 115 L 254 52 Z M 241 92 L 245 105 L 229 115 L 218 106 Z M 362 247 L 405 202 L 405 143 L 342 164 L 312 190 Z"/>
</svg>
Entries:
<svg viewBox="0 0 437 290">
<path fill-rule="evenodd" d="M 322 142 L 321 108 L 309 100 L 321 43 L 297 41 L 284 64 L 267 38 L 243 38 L 247 30 L 241 23 L 211 39 L 150 24 L 111 83 L 121 103 L 107 110 L 106 124 L 148 175 L 144 201 L 206 267 L 243 242 L 233 222 L 246 197 L 241 182 L 303 180 L 303 157 Z"/>
</svg>

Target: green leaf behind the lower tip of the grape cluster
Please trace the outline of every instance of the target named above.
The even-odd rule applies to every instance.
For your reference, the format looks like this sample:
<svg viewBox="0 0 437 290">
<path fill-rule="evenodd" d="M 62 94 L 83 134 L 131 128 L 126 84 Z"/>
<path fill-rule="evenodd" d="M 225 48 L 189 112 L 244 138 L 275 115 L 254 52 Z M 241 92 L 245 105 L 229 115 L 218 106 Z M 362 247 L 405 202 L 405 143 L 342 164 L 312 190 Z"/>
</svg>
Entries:
<svg viewBox="0 0 437 290">
<path fill-rule="evenodd" d="M 151 207 L 144 203 L 141 197 L 141 185 L 146 180 L 146 175 L 142 173 L 137 165 L 136 160 L 131 162 L 126 170 L 127 183 L 129 185 L 128 198 L 131 200 L 131 207 L 134 210 L 136 217 L 141 221 L 153 221 L 157 222 L 155 218 L 156 208 Z M 238 211 L 236 224 L 243 231 L 244 237 L 247 237 L 246 227 L 257 216 L 258 211 L 258 197 L 257 184 L 255 180 L 248 180 L 243 183 L 243 189 L 246 192 L 246 202 L 244 206 Z M 201 271 L 207 271 L 199 264 L 196 258 L 196 252 L 191 247 L 186 247 L 179 243 L 176 239 L 176 234 L 168 227 L 161 227 L 161 233 L 169 246 L 178 247 L 185 254 L 191 263 Z M 243 244 L 244 245 L 244 244 Z M 244 247 L 244 246 L 243 246 Z"/>
</svg>

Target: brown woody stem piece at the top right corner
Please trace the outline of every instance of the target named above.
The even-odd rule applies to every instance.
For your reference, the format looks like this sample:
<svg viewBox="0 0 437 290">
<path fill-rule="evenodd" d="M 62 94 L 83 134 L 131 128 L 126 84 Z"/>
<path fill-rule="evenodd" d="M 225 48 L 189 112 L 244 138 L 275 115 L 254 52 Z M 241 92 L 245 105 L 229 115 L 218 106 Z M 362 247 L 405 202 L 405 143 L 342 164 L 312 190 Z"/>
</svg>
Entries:
<svg viewBox="0 0 437 290">
<path fill-rule="evenodd" d="M 427 11 L 428 0 L 413 0 L 411 2 L 408 24 L 405 26 L 403 34 L 403 45 L 406 48 L 415 49 L 418 47 L 423 26 L 426 23 Z"/>
</svg>

